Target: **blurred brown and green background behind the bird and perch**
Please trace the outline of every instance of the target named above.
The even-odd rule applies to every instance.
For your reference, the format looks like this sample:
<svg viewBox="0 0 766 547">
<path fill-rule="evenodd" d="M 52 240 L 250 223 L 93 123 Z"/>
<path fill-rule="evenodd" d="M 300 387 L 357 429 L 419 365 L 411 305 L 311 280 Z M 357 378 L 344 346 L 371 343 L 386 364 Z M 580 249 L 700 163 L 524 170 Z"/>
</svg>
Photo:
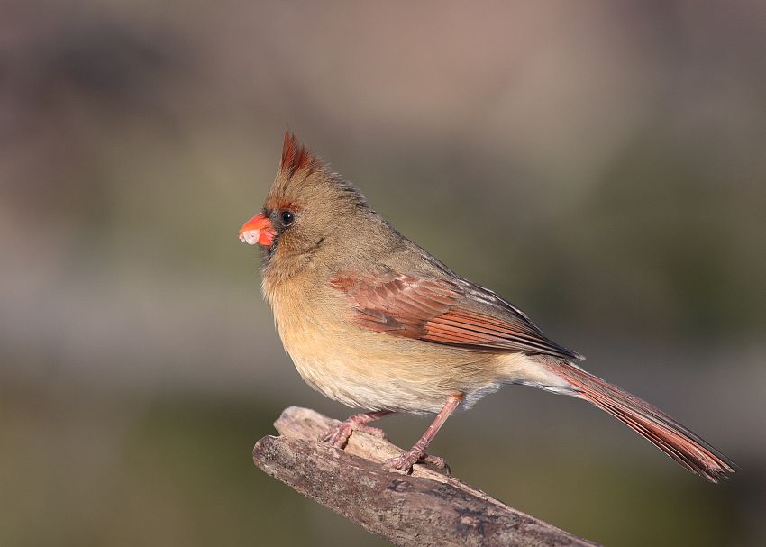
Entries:
<svg viewBox="0 0 766 547">
<path fill-rule="evenodd" d="M 762 2 L 0 11 L 0 544 L 385 544 L 251 462 L 285 406 L 351 413 L 236 237 L 286 127 L 741 466 L 506 387 L 433 445 L 461 479 L 611 546 L 766 544 Z"/>
</svg>

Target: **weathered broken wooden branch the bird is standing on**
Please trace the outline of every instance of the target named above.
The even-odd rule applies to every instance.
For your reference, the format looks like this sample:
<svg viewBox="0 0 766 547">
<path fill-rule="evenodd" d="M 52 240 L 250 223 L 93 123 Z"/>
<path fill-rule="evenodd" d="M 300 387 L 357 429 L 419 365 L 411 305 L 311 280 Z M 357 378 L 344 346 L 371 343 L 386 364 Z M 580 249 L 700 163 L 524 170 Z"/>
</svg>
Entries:
<svg viewBox="0 0 766 547">
<path fill-rule="evenodd" d="M 402 547 L 596 545 L 422 465 L 412 475 L 383 470 L 381 463 L 401 452 L 387 440 L 355 432 L 343 451 L 318 442 L 338 423 L 291 406 L 274 424 L 280 436 L 260 439 L 252 459 L 304 496 Z"/>
</svg>

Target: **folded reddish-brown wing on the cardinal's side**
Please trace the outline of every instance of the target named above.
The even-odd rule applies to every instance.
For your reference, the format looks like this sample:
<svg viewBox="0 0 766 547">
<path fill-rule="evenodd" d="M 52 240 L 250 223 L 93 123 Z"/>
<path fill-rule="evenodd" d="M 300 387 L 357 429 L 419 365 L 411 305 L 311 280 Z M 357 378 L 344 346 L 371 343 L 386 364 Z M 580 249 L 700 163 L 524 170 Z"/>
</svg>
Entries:
<svg viewBox="0 0 766 547">
<path fill-rule="evenodd" d="M 513 305 L 463 279 L 452 282 L 394 272 L 369 278 L 342 273 L 332 284 L 354 301 L 356 322 L 378 333 L 473 350 L 579 359 L 548 340 Z"/>
</svg>

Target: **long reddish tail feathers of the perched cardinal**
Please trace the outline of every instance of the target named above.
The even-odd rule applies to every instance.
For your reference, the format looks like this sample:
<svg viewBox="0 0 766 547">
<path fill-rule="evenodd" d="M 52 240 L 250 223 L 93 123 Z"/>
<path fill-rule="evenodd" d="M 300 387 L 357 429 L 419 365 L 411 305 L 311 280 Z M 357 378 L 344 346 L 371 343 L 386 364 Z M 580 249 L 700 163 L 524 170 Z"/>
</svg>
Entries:
<svg viewBox="0 0 766 547">
<path fill-rule="evenodd" d="M 644 439 L 679 462 L 680 465 L 711 482 L 734 473 L 734 462 L 686 427 L 639 397 L 597 378 L 565 361 L 546 361 L 548 369 L 568 382 L 579 397 L 640 434 Z"/>
</svg>

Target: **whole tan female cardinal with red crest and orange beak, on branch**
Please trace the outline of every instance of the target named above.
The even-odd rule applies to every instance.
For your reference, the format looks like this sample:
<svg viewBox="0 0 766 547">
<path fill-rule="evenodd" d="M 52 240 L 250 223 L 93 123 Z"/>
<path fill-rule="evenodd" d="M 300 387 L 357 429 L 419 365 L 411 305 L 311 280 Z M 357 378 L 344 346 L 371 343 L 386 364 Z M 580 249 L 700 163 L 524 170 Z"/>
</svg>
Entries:
<svg viewBox="0 0 766 547">
<path fill-rule="evenodd" d="M 277 179 L 240 230 L 263 250 L 263 293 L 282 343 L 311 387 L 369 410 L 325 440 L 395 412 L 437 413 L 388 468 L 409 471 L 455 408 L 502 384 L 586 399 L 713 482 L 734 464 L 661 410 L 575 364 L 524 312 L 461 278 L 369 208 L 350 182 L 285 134 Z"/>
</svg>

